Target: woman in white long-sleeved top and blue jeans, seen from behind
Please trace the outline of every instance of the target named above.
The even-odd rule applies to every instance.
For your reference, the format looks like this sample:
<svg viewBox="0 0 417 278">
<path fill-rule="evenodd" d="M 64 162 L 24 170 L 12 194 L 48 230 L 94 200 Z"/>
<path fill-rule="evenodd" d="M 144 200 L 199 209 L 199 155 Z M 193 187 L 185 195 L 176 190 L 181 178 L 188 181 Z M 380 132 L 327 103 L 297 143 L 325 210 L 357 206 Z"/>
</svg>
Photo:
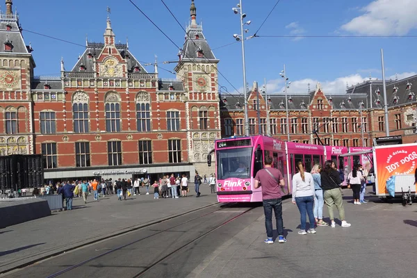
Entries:
<svg viewBox="0 0 417 278">
<path fill-rule="evenodd" d="M 297 163 L 297 174 L 293 177 L 293 204 L 297 204 L 300 211 L 301 229 L 298 234 L 316 234 L 313 204 L 314 181 L 309 172 L 304 172 L 302 162 Z M 306 231 L 306 213 L 309 215 L 310 229 Z"/>
</svg>

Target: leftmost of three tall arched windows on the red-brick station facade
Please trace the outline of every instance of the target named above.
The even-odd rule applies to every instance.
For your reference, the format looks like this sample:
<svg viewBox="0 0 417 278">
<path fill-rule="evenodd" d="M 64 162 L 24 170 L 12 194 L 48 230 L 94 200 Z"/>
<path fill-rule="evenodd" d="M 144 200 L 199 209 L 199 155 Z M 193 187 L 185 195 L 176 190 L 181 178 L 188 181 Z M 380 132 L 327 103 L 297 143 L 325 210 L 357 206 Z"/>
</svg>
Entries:
<svg viewBox="0 0 417 278">
<path fill-rule="evenodd" d="M 74 117 L 74 132 L 88 132 L 88 95 L 76 92 L 72 97 L 72 113 Z"/>
</svg>

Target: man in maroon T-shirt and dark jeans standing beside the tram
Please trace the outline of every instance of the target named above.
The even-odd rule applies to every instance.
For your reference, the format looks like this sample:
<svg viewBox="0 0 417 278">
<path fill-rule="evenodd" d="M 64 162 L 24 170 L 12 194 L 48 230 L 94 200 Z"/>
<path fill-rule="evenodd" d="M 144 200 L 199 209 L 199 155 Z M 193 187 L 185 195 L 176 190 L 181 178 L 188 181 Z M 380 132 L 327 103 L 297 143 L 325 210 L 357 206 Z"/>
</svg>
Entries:
<svg viewBox="0 0 417 278">
<path fill-rule="evenodd" d="M 255 176 L 254 188 L 262 188 L 263 213 L 265 213 L 265 228 L 267 238 L 265 243 L 272 244 L 272 209 L 275 213 L 277 221 L 278 242 L 285 243 L 284 237 L 284 221 L 282 220 L 282 190 L 285 182 L 281 172 L 272 168 L 272 157 L 265 156 L 265 168 L 259 170 Z"/>
</svg>

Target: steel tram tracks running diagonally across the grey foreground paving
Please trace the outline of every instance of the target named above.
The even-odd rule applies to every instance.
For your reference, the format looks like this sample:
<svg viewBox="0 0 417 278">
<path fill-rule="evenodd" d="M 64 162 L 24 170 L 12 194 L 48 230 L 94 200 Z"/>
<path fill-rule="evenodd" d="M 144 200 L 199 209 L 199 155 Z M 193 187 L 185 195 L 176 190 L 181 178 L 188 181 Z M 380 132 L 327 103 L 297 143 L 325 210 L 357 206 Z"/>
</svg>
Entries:
<svg viewBox="0 0 417 278">
<path fill-rule="evenodd" d="M 158 265 L 160 263 L 163 263 L 163 261 L 170 258 L 170 256 L 176 254 L 177 252 L 180 252 L 185 247 L 195 243 L 197 240 L 204 238 L 208 234 L 213 233 L 213 231 L 215 231 L 217 229 L 220 229 L 221 227 L 224 227 L 229 222 L 232 222 L 232 221 L 236 220 L 236 218 L 240 218 L 240 216 L 242 216 L 245 213 L 247 213 L 249 211 L 252 211 L 252 209 L 256 208 L 256 207 L 250 207 L 250 208 L 246 207 L 241 211 L 236 210 L 236 208 L 232 208 L 232 210 L 229 211 L 229 213 L 234 214 L 233 216 L 229 216 L 225 213 L 221 213 L 220 214 L 221 216 L 215 214 L 215 213 L 219 213 L 219 212 L 225 212 L 225 211 L 227 212 L 227 209 L 231 208 L 231 206 L 234 206 L 234 203 L 225 204 L 225 205 L 222 205 L 222 206 L 220 206 L 218 208 L 215 208 L 215 209 L 210 209 L 210 208 L 213 208 L 213 206 L 208 206 L 208 207 L 206 206 L 203 209 L 210 210 L 207 213 L 196 215 L 195 217 L 193 215 L 193 218 L 187 219 L 185 221 L 181 221 L 180 223 L 174 224 L 174 225 L 172 225 L 170 223 L 163 223 L 165 221 L 161 221 L 161 222 L 154 223 L 154 224 L 149 224 L 147 226 L 147 228 L 152 227 L 152 226 L 157 225 L 157 224 L 161 224 L 162 226 L 163 226 L 163 224 L 165 224 L 165 225 L 169 224 L 169 226 L 166 227 L 166 229 L 161 229 L 161 230 L 158 230 L 157 226 L 156 226 L 156 229 L 147 229 L 146 231 L 148 233 L 151 232 L 151 234 L 146 235 L 146 233 L 145 233 L 144 236 L 141 236 L 140 238 L 138 238 L 136 240 L 130 240 L 128 243 L 124 243 L 124 244 L 116 246 L 116 247 L 111 247 L 111 248 L 105 247 L 105 248 L 98 248 L 97 249 L 97 245 L 99 243 L 90 244 L 89 246 L 85 246 L 85 247 L 87 247 L 87 248 L 90 247 L 91 248 L 91 247 L 96 246 L 96 248 L 94 249 L 95 252 L 103 252 L 103 251 L 104 252 L 101 253 L 101 254 L 95 255 L 95 256 L 87 257 L 87 258 L 83 259 L 82 261 L 80 261 L 78 263 L 74 263 L 73 265 L 62 264 L 60 266 L 61 267 L 65 266 L 65 268 L 61 269 L 59 271 L 56 271 L 57 270 L 56 268 L 59 268 L 60 266 L 56 266 L 56 268 L 54 270 L 55 272 L 53 272 L 53 274 L 51 274 L 51 275 L 49 275 L 49 273 L 51 273 L 51 272 L 49 272 L 48 274 L 43 275 L 43 276 L 41 276 L 41 275 L 38 276 L 38 275 L 36 275 L 36 273 L 33 273 L 33 277 L 51 277 L 51 278 L 52 277 L 60 277 L 60 276 L 72 277 L 73 272 L 77 273 L 77 272 L 83 271 L 85 268 L 87 268 L 87 269 L 88 268 L 95 268 L 95 267 L 97 267 L 97 265 L 101 265 L 102 261 L 112 261 L 113 257 L 119 256 L 118 254 L 122 254 L 122 252 L 125 252 L 126 250 L 127 250 L 127 252 L 129 252 L 129 250 L 135 250 L 135 248 L 138 248 L 138 246 L 142 247 L 142 245 L 145 245 L 146 243 L 154 242 L 157 238 L 159 238 L 161 236 L 165 237 L 165 235 L 163 235 L 163 233 L 166 234 L 166 233 L 169 233 L 169 232 L 179 232 L 179 231 L 182 231 L 182 230 L 187 230 L 187 227 L 190 227 L 190 225 L 191 225 L 191 227 L 194 227 L 194 226 L 199 227 L 200 225 L 202 225 L 202 223 L 213 222 L 213 219 L 221 221 L 220 224 L 215 223 L 215 225 L 213 225 L 212 227 L 209 227 L 207 230 L 199 231 L 199 234 L 193 235 L 192 238 L 187 238 L 186 242 L 181 242 L 181 244 L 179 246 L 172 246 L 172 248 L 167 248 L 166 250 L 163 251 L 163 254 L 161 254 L 161 256 L 156 257 L 155 259 L 152 259 L 152 261 L 149 261 L 147 263 L 147 265 L 142 265 L 140 267 L 137 266 L 138 268 L 142 268 L 142 269 L 140 271 L 136 272 L 134 275 L 129 274 L 128 276 L 125 276 L 125 277 L 142 277 L 147 272 L 149 272 L 149 270 L 152 270 L 152 268 L 154 268 L 156 265 Z M 243 207 L 240 207 L 240 208 L 243 208 Z M 199 211 L 201 211 L 201 209 L 199 209 Z M 193 211 L 193 212 L 195 212 L 195 211 Z M 193 213 L 193 212 L 189 212 L 189 213 Z M 236 214 L 236 213 L 238 213 L 238 214 Z M 188 213 L 186 213 L 186 214 L 188 214 Z M 185 216 L 185 215 L 182 215 L 182 216 Z M 180 217 L 180 216 L 178 216 L 178 217 Z M 225 218 L 225 219 L 223 219 L 223 218 Z M 166 220 L 166 221 L 168 221 L 168 220 Z M 211 223 L 211 224 L 213 224 L 213 223 Z M 181 227 L 183 227 L 183 229 L 181 229 Z M 135 231 L 131 231 L 128 234 L 131 234 L 133 232 L 135 232 Z M 138 232 L 138 230 L 136 230 L 136 232 Z M 124 236 L 129 236 L 128 234 L 124 234 Z M 133 236 L 136 236 L 136 234 L 133 235 Z M 145 243 L 141 243 L 141 242 L 145 242 Z M 104 244 L 104 243 L 102 243 L 102 244 Z M 42 264 L 44 262 L 49 261 L 49 260 L 54 259 L 54 258 L 57 258 L 57 260 L 60 260 L 60 261 L 65 261 L 65 259 L 63 259 L 63 258 L 65 258 L 65 256 L 67 256 L 67 255 L 70 256 L 70 258 L 72 258 L 72 256 L 74 256 L 74 254 L 79 254 L 80 252 L 81 252 L 81 254 L 83 254 L 82 253 L 83 251 L 81 250 L 81 247 L 79 249 L 80 250 L 72 250 L 71 252 L 68 252 L 67 254 L 60 254 L 58 256 L 51 257 L 47 260 L 44 260 L 41 263 L 28 265 L 26 268 L 15 270 L 15 275 L 17 275 L 16 277 L 18 277 L 19 276 L 18 275 L 19 271 L 21 271 L 21 270 L 24 271 L 25 269 L 30 270 L 30 268 L 33 268 L 33 270 L 36 270 L 36 268 L 38 268 L 38 269 L 44 268 L 42 266 Z M 170 249 L 172 249 L 172 250 L 170 250 Z M 78 251 L 80 251 L 80 252 L 78 252 Z M 117 253 L 117 251 L 119 251 L 120 253 Z M 137 252 L 138 252 L 138 254 L 141 254 L 142 251 L 146 252 L 146 250 L 138 250 Z M 88 252 L 86 252 L 86 254 L 88 254 Z M 62 258 L 58 258 L 59 256 L 62 256 Z M 81 255 L 81 256 L 83 256 L 83 255 Z M 51 269 L 49 269 L 49 270 L 51 270 Z M 44 269 L 42 269 L 42 271 L 47 272 L 48 270 L 46 268 L 44 268 Z M 70 275 L 70 276 L 68 276 L 68 275 Z M 13 276 L 13 273 L 12 273 L 12 276 Z"/>
</svg>

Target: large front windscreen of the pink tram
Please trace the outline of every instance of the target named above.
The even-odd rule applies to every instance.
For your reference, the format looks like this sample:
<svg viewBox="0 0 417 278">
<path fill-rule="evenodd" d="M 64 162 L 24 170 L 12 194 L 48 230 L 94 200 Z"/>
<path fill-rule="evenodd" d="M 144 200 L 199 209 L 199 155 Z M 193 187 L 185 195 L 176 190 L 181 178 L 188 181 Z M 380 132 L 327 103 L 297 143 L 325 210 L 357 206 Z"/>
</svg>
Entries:
<svg viewBox="0 0 417 278">
<path fill-rule="evenodd" d="M 217 152 L 218 179 L 250 177 L 252 147 L 239 149 L 221 149 Z"/>
</svg>

